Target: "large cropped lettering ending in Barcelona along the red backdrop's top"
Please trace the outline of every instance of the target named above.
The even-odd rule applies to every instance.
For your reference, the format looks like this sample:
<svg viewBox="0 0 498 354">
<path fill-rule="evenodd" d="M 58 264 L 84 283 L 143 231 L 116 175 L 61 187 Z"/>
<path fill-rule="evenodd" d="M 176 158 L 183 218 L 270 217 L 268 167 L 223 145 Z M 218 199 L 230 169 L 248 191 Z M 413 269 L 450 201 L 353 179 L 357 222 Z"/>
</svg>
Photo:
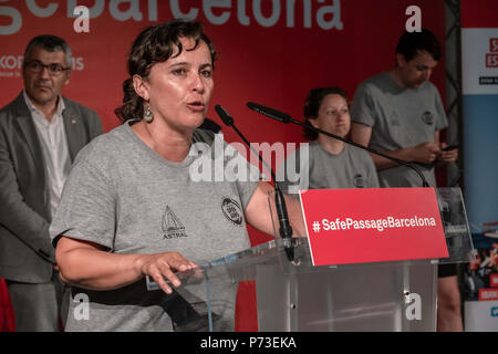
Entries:
<svg viewBox="0 0 498 354">
<path fill-rule="evenodd" d="M 297 25 L 295 19 L 299 17 L 297 9 L 302 11 L 302 27 L 305 29 L 311 29 L 313 25 L 313 14 L 317 25 L 323 30 L 338 29 L 342 30 L 344 28 L 341 21 L 341 0 L 314 0 L 318 4 L 313 8 L 313 2 L 311 0 L 302 0 L 298 2 L 295 0 L 252 0 L 251 6 L 248 4 L 246 0 L 203 0 L 198 2 L 185 2 L 179 0 L 170 0 L 169 9 L 175 19 L 183 18 L 187 20 L 195 20 L 199 17 L 199 12 L 203 11 L 207 21 L 216 24 L 222 25 L 228 22 L 231 18 L 232 12 L 237 11 L 237 20 L 241 25 L 250 25 L 252 19 L 259 25 L 264 28 L 274 27 L 280 20 L 284 21 L 287 28 L 294 28 Z M 2 2 L 0 0 L 0 2 Z M 63 7 L 60 7 L 58 1 L 43 1 L 44 7 L 41 7 L 37 0 L 27 0 L 28 10 L 40 18 L 49 18 L 55 14 L 55 12 Z M 92 7 L 86 7 L 86 11 L 82 13 L 81 8 L 79 8 L 77 0 L 66 0 L 66 17 L 77 19 L 73 22 L 73 28 L 77 33 L 87 32 L 87 19 L 94 19 L 100 17 L 104 10 L 106 3 L 108 3 L 110 14 L 117 21 L 142 21 L 144 15 L 141 11 L 142 2 L 147 3 L 148 8 L 148 20 L 158 20 L 158 9 L 157 0 L 94 0 Z M 181 9 L 180 9 L 181 3 Z M 190 3 L 190 4 L 188 4 Z M 198 3 L 196 7 L 195 3 Z M 302 8 L 298 7 L 298 3 L 302 3 Z M 124 6 L 126 10 L 124 9 Z M 262 8 L 264 6 L 266 13 L 263 14 Z M 271 8 L 270 8 L 271 6 Z M 237 9 L 236 9 L 237 7 Z M 282 7 L 286 7 L 283 11 Z M 226 9 L 220 11 L 220 9 Z M 271 9 L 268 12 L 267 9 Z M 408 8 L 409 9 L 409 8 Z M 284 19 L 282 19 L 282 15 Z M 14 7 L 0 7 L 0 17 L 8 17 L 11 19 L 12 23 L 8 25 L 0 25 L 0 34 L 8 35 L 17 33 L 22 28 L 22 13 Z M 411 20 L 408 20 L 409 22 Z M 3 21 L 2 23 L 6 23 Z M 282 22 L 283 23 L 283 22 Z"/>
</svg>

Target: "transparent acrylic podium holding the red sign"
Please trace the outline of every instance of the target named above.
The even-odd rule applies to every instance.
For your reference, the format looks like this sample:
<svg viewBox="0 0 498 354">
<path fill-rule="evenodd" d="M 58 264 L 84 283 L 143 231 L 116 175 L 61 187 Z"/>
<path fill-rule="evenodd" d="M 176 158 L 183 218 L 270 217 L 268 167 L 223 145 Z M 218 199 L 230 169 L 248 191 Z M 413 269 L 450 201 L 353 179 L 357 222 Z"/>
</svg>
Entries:
<svg viewBox="0 0 498 354">
<path fill-rule="evenodd" d="M 438 264 L 474 257 L 460 189 L 436 196 L 448 258 L 314 267 L 308 238 L 276 239 L 178 273 L 175 331 L 234 331 L 242 281 L 256 284 L 260 332 L 435 331 Z"/>
</svg>

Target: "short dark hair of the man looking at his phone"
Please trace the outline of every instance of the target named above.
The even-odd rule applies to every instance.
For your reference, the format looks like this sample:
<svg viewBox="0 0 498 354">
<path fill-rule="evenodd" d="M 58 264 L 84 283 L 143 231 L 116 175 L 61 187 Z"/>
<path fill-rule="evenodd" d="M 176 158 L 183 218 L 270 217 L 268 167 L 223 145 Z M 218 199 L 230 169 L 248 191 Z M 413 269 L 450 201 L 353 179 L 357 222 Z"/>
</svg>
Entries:
<svg viewBox="0 0 498 354">
<path fill-rule="evenodd" d="M 436 35 L 427 29 L 421 32 L 405 32 L 400 38 L 396 54 L 403 54 L 405 61 L 409 62 L 417 53 L 427 52 L 435 61 L 440 59 L 440 45 Z"/>
</svg>

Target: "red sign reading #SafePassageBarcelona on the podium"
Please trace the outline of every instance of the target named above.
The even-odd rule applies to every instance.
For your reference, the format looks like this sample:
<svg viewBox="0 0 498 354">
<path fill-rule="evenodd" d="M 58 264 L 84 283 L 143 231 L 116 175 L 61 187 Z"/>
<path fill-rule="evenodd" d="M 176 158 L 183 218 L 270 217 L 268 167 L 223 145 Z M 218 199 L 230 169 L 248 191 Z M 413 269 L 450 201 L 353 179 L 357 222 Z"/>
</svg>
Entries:
<svg viewBox="0 0 498 354">
<path fill-rule="evenodd" d="M 447 258 L 434 188 L 300 191 L 314 266 Z"/>
</svg>

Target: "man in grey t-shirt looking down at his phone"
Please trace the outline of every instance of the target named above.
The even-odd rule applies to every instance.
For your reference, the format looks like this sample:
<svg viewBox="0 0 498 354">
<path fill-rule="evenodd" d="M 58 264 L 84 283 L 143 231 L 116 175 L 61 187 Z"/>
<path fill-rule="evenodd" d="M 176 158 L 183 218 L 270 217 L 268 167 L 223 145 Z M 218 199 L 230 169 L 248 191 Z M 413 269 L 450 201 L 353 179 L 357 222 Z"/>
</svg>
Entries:
<svg viewBox="0 0 498 354">
<path fill-rule="evenodd" d="M 436 163 L 456 160 L 439 139 L 448 119 L 439 93 L 428 80 L 440 58 L 440 45 L 428 30 L 405 32 L 396 48 L 396 65 L 356 90 L 352 104 L 351 138 L 398 159 L 417 163 L 436 187 Z M 405 166 L 372 154 L 381 187 L 422 187 L 419 176 Z M 438 268 L 438 331 L 463 331 L 455 264 Z"/>
</svg>

